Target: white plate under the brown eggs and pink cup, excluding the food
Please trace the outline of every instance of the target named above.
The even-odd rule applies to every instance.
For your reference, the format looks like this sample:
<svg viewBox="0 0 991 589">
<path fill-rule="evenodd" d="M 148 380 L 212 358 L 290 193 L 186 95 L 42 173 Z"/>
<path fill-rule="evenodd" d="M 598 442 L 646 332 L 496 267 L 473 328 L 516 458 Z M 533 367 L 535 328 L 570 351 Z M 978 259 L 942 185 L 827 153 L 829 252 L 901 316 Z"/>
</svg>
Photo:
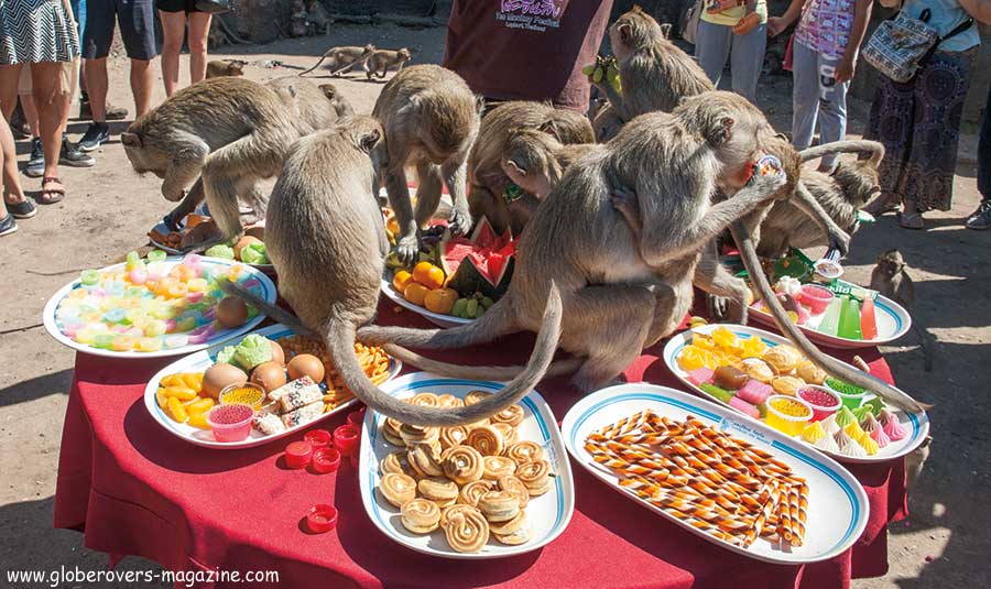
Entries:
<svg viewBox="0 0 991 589">
<path fill-rule="evenodd" d="M 286 327 L 284 325 L 270 325 L 264 329 L 259 329 L 254 331 L 260 336 L 265 336 L 269 339 L 279 339 L 286 336 L 292 336 L 294 334 L 293 329 Z M 228 342 L 233 345 L 233 342 Z M 166 432 L 172 434 L 173 436 L 188 441 L 189 444 L 195 444 L 196 446 L 203 446 L 205 448 L 218 448 L 221 450 L 238 450 L 241 448 L 253 448 L 255 446 L 261 446 L 262 444 L 268 444 L 270 441 L 275 441 L 276 439 L 284 438 L 285 436 L 290 436 L 300 429 L 306 429 L 315 424 L 318 424 L 326 419 L 331 415 L 336 415 L 346 408 L 350 407 L 355 404 L 357 399 L 348 401 L 341 406 L 335 408 L 334 411 L 324 413 L 316 419 L 297 425 L 296 427 L 291 427 L 285 432 L 280 432 L 279 434 L 273 434 L 271 436 L 265 436 L 261 432 L 258 432 L 254 428 L 251 428 L 251 434 L 249 434 L 248 438 L 241 441 L 217 441 L 214 439 L 213 434 L 206 429 L 199 429 L 198 427 L 193 427 L 192 425 L 179 424 L 174 422 L 162 407 L 155 402 L 155 392 L 159 390 L 159 383 L 168 374 L 174 374 L 176 372 L 203 372 L 206 369 L 214 366 L 214 360 L 217 358 L 217 352 L 219 352 L 225 345 L 213 346 L 207 350 L 200 350 L 194 355 L 187 356 L 175 362 L 168 364 L 167 367 L 160 370 L 155 373 L 154 377 L 148 382 L 148 386 L 144 388 L 144 408 L 148 410 L 148 413 L 151 414 L 152 418 L 161 425 Z M 389 362 L 389 380 L 395 378 L 396 374 L 403 369 L 403 363 L 396 358 L 390 358 Z M 386 381 L 388 382 L 388 381 Z"/>
</svg>

